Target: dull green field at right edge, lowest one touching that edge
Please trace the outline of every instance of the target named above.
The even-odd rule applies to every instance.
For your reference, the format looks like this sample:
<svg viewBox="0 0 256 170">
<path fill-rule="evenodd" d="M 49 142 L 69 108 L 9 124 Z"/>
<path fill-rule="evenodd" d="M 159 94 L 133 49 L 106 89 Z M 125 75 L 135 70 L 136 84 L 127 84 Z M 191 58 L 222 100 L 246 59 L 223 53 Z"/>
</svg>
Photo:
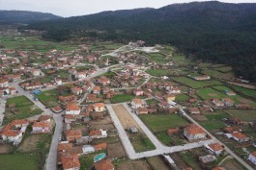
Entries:
<svg viewBox="0 0 256 170">
<path fill-rule="evenodd" d="M 239 117 L 243 121 L 252 121 L 256 119 L 256 111 L 255 110 L 244 110 L 244 109 L 227 109 L 228 113 L 232 114 L 235 117 Z"/>
</svg>

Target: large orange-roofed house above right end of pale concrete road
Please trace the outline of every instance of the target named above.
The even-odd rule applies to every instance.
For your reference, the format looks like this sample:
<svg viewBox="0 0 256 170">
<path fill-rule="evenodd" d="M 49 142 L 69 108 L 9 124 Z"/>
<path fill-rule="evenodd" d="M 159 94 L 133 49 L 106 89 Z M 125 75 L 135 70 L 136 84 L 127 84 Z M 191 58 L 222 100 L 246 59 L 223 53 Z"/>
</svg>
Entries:
<svg viewBox="0 0 256 170">
<path fill-rule="evenodd" d="M 184 134 L 188 140 L 205 138 L 207 135 L 206 132 L 202 128 L 200 128 L 194 124 L 187 125 L 185 127 Z"/>
</svg>

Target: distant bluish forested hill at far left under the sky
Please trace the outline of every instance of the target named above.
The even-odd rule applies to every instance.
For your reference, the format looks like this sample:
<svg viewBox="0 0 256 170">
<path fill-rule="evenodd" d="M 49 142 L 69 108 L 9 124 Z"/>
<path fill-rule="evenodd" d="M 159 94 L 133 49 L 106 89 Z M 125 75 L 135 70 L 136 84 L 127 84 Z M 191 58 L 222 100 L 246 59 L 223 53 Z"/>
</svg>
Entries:
<svg viewBox="0 0 256 170">
<path fill-rule="evenodd" d="M 0 11 L 0 24 L 12 24 L 22 23 L 29 24 L 35 21 L 60 19 L 60 16 L 56 16 L 51 13 L 43 12 L 25 12 L 25 11 Z"/>
</svg>

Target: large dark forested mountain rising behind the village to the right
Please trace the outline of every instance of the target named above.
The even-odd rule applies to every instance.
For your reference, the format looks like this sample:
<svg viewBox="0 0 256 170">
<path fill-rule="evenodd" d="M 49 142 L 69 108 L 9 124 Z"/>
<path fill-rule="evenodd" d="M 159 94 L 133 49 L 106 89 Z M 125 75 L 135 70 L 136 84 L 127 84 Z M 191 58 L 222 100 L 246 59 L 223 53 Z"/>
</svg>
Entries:
<svg viewBox="0 0 256 170">
<path fill-rule="evenodd" d="M 256 4 L 193 2 L 160 9 L 100 12 L 27 28 L 45 30 L 44 37 L 57 40 L 75 32 L 76 36 L 170 44 L 187 56 L 232 64 L 238 75 L 256 82 Z"/>
</svg>

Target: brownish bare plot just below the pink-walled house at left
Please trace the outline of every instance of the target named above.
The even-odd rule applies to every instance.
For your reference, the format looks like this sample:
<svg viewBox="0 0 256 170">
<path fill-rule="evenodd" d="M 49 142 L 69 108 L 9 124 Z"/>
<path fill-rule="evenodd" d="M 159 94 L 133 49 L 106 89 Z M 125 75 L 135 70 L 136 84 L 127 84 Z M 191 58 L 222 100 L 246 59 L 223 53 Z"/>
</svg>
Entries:
<svg viewBox="0 0 256 170">
<path fill-rule="evenodd" d="M 25 140 L 19 145 L 17 151 L 20 152 L 32 152 L 37 149 L 37 144 L 40 141 L 40 134 L 30 134 Z"/>
</svg>

